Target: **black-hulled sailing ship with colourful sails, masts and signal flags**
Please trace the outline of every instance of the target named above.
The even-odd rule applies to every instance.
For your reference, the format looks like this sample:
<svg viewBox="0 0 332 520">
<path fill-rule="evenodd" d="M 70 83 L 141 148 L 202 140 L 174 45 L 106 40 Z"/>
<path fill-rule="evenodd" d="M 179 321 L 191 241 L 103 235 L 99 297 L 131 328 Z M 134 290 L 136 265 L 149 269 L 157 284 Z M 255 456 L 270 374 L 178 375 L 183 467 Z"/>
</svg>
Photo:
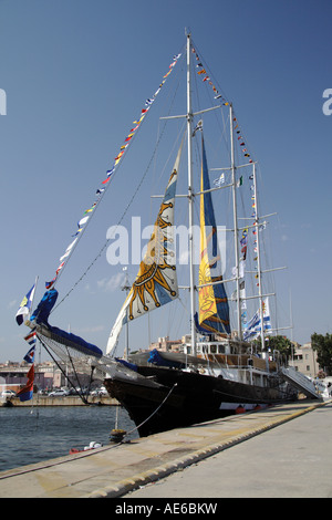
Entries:
<svg viewBox="0 0 332 520">
<path fill-rule="evenodd" d="M 187 34 L 186 52 L 187 67 L 187 112 L 181 116 L 185 121 L 184 138 L 170 169 L 170 176 L 155 220 L 153 233 L 148 241 L 145 256 L 141 261 L 138 273 L 132 287 L 128 288 L 126 299 L 120 310 L 112 327 L 106 353 L 94 344 L 81 337 L 66 333 L 49 323 L 49 315 L 58 298 L 54 289 L 59 274 L 68 257 L 71 256 L 77 238 L 89 217 L 79 222 L 77 237 L 71 242 L 61 258 L 56 275 L 48 285 L 48 291 L 32 316 L 25 324 L 35 332 L 42 345 L 50 355 L 55 353 L 62 361 L 84 362 L 86 371 L 97 377 L 104 378 L 105 387 L 112 397 L 128 412 L 142 436 L 188 426 L 201 422 L 225 417 L 240 410 L 259 409 L 267 405 L 292 402 L 298 398 L 299 389 L 311 398 L 318 395 L 309 379 L 301 379 L 289 367 L 282 365 L 281 356 L 269 352 L 267 337 L 271 334 L 271 320 L 269 312 L 269 294 L 262 291 L 260 232 L 266 225 L 258 212 L 256 162 L 252 160 L 242 143 L 241 132 L 237 129 L 237 118 L 234 107 L 215 87 L 207 76 L 206 69 L 191 44 L 191 35 Z M 191 108 L 191 61 L 197 60 L 198 74 L 207 80 L 214 91 L 217 105 L 194 113 Z M 137 129 L 139 122 L 145 117 L 149 106 L 158 95 L 168 74 L 173 71 L 179 55 L 177 55 L 164 76 L 163 83 L 152 100 L 147 100 L 146 108 L 142 111 L 142 118 L 137 126 L 132 128 L 125 146 L 115 159 L 115 165 L 125 153 L 129 139 Z M 210 183 L 208 168 L 205 128 L 203 117 L 211 110 L 222 108 L 229 111 L 230 122 L 230 166 L 224 168 L 230 176 L 227 183 Z M 197 118 L 199 118 L 198 123 Z M 251 225 L 240 227 L 237 211 L 237 190 L 241 184 L 238 178 L 238 167 L 235 158 L 235 136 L 239 136 L 239 144 L 247 160 L 245 166 L 250 168 L 252 181 Z M 183 290 L 178 285 L 176 251 L 174 237 L 176 187 L 179 175 L 180 157 L 184 139 L 187 141 L 187 178 L 188 191 L 188 223 L 189 230 L 194 226 L 194 202 L 199 199 L 200 218 L 200 249 L 198 280 L 195 280 L 195 245 L 193 233 L 189 233 L 189 292 L 190 315 L 188 326 L 190 334 L 184 342 L 179 352 L 138 351 L 129 353 L 128 345 L 123 356 L 116 355 L 118 337 L 123 329 L 141 316 L 157 313 L 160 308 L 175 302 Z M 200 147 L 200 187 L 195 193 L 193 180 L 193 139 L 199 142 Z M 224 176 L 224 173 L 221 174 Z M 110 180 L 113 169 L 107 171 L 105 184 Z M 220 175 L 220 179 L 221 179 Z M 221 185 L 220 185 L 221 184 Z M 218 226 L 214 209 L 212 194 L 218 189 L 228 188 L 232 198 L 232 229 L 235 249 L 235 267 L 232 275 L 225 279 L 222 275 L 222 258 L 218 241 Z M 95 210 L 94 204 L 91 211 Z M 221 208 L 221 211 L 225 208 Z M 220 208 L 218 208 L 220 212 Z M 243 292 L 245 260 L 248 245 L 248 233 L 255 233 L 255 252 L 257 269 L 258 293 L 246 297 Z M 231 298 L 227 297 L 227 284 L 232 283 L 235 291 Z M 197 298 L 198 297 L 198 298 Z M 246 301 L 256 299 L 257 312 L 246 322 Z M 198 311 L 196 311 L 198 300 Z M 236 322 L 231 329 L 230 304 L 236 306 Z M 253 340 L 259 340 L 253 342 Z M 134 345 L 135 349 L 135 345 Z"/>
</svg>

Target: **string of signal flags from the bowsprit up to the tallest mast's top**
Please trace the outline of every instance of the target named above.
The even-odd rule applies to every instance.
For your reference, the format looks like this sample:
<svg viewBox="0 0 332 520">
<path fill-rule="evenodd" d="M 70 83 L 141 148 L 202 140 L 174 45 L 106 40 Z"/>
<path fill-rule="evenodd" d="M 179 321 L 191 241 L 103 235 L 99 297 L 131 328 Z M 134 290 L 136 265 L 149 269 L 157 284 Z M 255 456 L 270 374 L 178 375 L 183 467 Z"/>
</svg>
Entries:
<svg viewBox="0 0 332 520">
<path fill-rule="evenodd" d="M 58 278 L 59 278 L 59 274 L 60 272 L 62 271 L 62 269 L 64 268 L 65 263 L 68 262 L 69 260 L 69 257 L 71 256 L 71 253 L 73 252 L 73 249 L 74 247 L 77 245 L 77 241 L 80 239 L 80 237 L 82 236 L 82 232 L 84 231 L 84 229 L 86 228 L 86 225 L 90 220 L 90 218 L 92 217 L 93 212 L 95 211 L 96 207 L 98 206 L 104 193 L 105 193 L 105 189 L 118 165 L 118 163 L 122 160 L 123 156 L 125 155 L 125 152 L 127 150 L 133 137 L 135 136 L 135 134 L 137 133 L 139 126 L 142 125 L 142 122 L 144 121 L 144 118 L 146 117 L 149 108 L 152 107 L 153 103 L 155 102 L 157 95 L 159 94 L 162 87 L 164 86 L 167 77 L 169 76 L 169 74 L 172 73 L 173 69 L 175 67 L 177 61 L 179 60 L 179 58 L 181 56 L 181 54 L 176 54 L 174 58 L 173 58 L 173 61 L 168 67 L 168 71 L 167 73 L 163 76 L 163 81 L 162 83 L 159 84 L 158 89 L 156 90 L 156 92 L 153 94 L 152 97 L 148 97 L 146 101 L 145 101 L 145 104 L 144 104 L 144 107 L 141 110 L 141 113 L 139 113 L 139 117 L 137 118 L 137 121 L 134 121 L 133 122 L 133 127 L 131 128 L 128 135 L 126 136 L 126 138 L 124 139 L 124 143 L 123 145 L 121 146 L 116 157 L 114 158 L 114 163 L 112 165 L 112 167 L 110 169 L 107 169 L 106 171 L 106 177 L 104 178 L 104 180 L 101 183 L 101 186 L 96 189 L 96 193 L 95 193 L 95 200 L 94 202 L 92 204 L 92 206 L 90 208 L 87 208 L 82 218 L 79 220 L 77 222 L 77 229 L 75 231 L 74 235 L 72 235 L 72 238 L 74 240 L 72 240 L 72 242 L 68 246 L 64 254 L 60 258 L 60 264 L 55 271 L 55 277 L 49 281 L 49 282 L 45 282 L 45 288 L 49 290 L 51 289 L 54 283 L 56 282 Z"/>
</svg>

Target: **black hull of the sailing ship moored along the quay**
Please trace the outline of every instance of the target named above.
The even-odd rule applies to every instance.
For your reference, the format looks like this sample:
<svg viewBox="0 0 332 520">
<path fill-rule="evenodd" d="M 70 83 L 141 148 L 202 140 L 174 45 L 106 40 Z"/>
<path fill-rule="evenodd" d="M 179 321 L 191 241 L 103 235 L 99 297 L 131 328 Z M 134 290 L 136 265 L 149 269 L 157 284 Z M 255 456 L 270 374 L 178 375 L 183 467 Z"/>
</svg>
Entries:
<svg viewBox="0 0 332 520">
<path fill-rule="evenodd" d="M 247 385 L 193 372 L 139 367 L 158 385 L 112 377 L 104 381 L 111 397 L 128 412 L 142 437 L 237 413 L 237 407 L 294 401 L 279 387 Z M 152 381 L 151 379 L 151 381 Z M 274 384 L 276 384 L 276 379 Z"/>
</svg>

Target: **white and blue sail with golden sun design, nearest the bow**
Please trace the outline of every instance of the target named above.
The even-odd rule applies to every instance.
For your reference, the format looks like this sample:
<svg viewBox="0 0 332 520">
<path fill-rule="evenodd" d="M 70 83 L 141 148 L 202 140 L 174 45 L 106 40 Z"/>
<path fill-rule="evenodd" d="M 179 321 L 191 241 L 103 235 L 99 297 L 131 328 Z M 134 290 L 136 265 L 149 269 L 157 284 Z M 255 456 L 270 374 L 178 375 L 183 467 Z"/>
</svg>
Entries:
<svg viewBox="0 0 332 520">
<path fill-rule="evenodd" d="M 106 354 L 112 354 L 121 330 L 127 321 L 133 321 L 178 297 L 173 233 L 175 190 L 181 148 L 183 145 L 178 150 L 138 274 L 111 331 Z"/>
</svg>

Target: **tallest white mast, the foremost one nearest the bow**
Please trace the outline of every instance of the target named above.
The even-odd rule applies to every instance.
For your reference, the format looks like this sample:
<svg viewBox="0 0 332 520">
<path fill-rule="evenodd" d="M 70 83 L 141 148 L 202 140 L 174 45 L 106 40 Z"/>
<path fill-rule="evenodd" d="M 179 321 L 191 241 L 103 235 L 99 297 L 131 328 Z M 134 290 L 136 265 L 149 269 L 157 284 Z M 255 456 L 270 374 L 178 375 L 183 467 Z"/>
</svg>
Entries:
<svg viewBox="0 0 332 520">
<path fill-rule="evenodd" d="M 190 273 L 190 327 L 191 354 L 196 355 L 195 329 L 195 273 L 194 273 L 194 190 L 193 190 L 193 158 L 191 158 L 191 74 L 190 74 L 190 33 L 187 34 L 187 138 L 188 138 L 188 201 L 189 201 L 189 273 Z"/>
</svg>

